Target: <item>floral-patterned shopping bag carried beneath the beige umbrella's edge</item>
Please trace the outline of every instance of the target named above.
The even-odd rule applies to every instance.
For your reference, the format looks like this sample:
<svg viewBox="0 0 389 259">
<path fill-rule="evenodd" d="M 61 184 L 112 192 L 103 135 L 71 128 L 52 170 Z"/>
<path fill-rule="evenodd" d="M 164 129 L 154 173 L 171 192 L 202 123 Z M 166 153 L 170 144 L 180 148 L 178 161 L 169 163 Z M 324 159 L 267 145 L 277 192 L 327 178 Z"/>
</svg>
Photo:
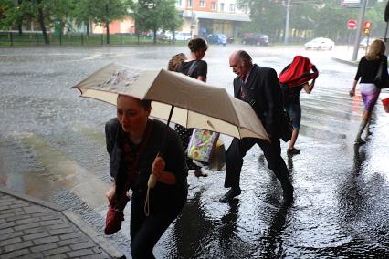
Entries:
<svg viewBox="0 0 389 259">
<path fill-rule="evenodd" d="M 205 129 L 194 129 L 187 154 L 195 161 L 209 162 L 220 133 Z"/>
</svg>

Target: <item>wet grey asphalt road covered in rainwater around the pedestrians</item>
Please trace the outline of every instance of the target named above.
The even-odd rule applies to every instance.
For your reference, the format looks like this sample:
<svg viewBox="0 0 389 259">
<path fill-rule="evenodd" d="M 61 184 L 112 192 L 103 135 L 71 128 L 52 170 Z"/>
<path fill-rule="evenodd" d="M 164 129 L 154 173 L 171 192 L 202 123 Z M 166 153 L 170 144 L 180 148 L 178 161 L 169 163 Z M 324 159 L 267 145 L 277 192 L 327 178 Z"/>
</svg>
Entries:
<svg viewBox="0 0 389 259">
<path fill-rule="evenodd" d="M 211 46 L 205 55 L 208 83 L 232 93 L 229 54 L 242 46 Z M 310 95 L 301 94 L 301 154 L 283 157 L 295 186 L 291 207 L 258 147 L 247 153 L 242 194 L 229 204 L 224 172 L 190 173 L 182 215 L 154 249 L 158 258 L 387 258 L 389 256 L 389 114 L 378 103 L 365 145 L 352 142 L 362 113 L 350 98 L 356 67 L 331 57 L 351 49 L 304 51 L 301 47 L 246 47 L 255 62 L 279 72 L 295 55 L 320 70 Z M 94 70 L 119 62 L 138 70 L 165 67 L 185 47 L 0 49 L 0 183 L 56 202 L 101 232 L 110 187 L 104 123 L 114 107 L 78 98 L 69 89 Z M 350 54 L 349 54 L 350 53 Z M 389 97 L 386 91 L 381 98 Z M 222 136 L 226 146 L 229 137 Z M 130 206 L 128 206 L 130 207 Z M 129 209 L 129 208 L 127 208 Z M 128 212 L 128 210 L 127 210 Z M 129 216 L 108 237 L 129 251 Z"/>
</svg>

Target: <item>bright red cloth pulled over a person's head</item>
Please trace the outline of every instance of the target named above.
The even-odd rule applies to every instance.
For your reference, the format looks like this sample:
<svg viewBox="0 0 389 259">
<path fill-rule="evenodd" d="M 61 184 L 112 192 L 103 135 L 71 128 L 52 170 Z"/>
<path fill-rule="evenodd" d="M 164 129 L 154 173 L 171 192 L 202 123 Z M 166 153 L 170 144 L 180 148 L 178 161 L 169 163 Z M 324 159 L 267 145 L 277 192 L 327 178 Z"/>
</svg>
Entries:
<svg viewBox="0 0 389 259">
<path fill-rule="evenodd" d="M 310 70 L 313 73 L 310 73 Z M 308 57 L 296 56 L 293 58 L 292 63 L 285 67 L 281 73 L 279 73 L 279 82 L 282 85 L 287 85 L 288 88 L 293 88 L 307 83 L 311 79 L 316 79 L 319 76 L 319 71 L 315 65 L 310 63 Z M 312 82 L 314 84 L 314 81 Z"/>
</svg>

